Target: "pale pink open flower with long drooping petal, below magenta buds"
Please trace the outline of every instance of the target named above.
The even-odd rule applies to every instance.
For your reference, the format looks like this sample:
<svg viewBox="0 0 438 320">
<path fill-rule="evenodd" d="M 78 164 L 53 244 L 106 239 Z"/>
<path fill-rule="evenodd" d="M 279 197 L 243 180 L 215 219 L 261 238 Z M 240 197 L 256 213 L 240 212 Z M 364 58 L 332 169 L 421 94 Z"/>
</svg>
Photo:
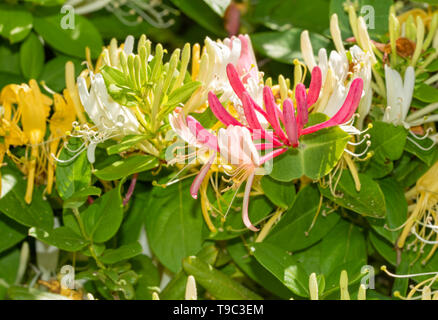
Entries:
<svg viewBox="0 0 438 320">
<path fill-rule="evenodd" d="M 246 180 L 242 220 L 248 229 L 258 231 L 259 229 L 251 223 L 248 215 L 249 195 L 254 176 L 266 161 L 282 154 L 287 149 L 276 149 L 260 157 L 249 130 L 246 127 L 233 125 L 228 126 L 226 129 L 219 129 L 218 144 L 221 158 L 227 164 L 236 167 L 233 173 L 228 174 L 235 179 L 237 188 Z"/>
</svg>

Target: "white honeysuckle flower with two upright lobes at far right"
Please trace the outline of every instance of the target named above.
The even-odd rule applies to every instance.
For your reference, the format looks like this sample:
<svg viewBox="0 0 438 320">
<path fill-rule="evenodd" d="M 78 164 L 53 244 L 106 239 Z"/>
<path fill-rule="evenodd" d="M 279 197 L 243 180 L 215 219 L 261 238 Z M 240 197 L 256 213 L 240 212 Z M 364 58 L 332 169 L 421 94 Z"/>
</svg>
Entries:
<svg viewBox="0 0 438 320">
<path fill-rule="evenodd" d="M 387 108 L 383 121 L 410 127 L 405 122 L 412 102 L 415 85 L 415 70 L 409 66 L 402 79 L 400 73 L 385 65 Z"/>
</svg>

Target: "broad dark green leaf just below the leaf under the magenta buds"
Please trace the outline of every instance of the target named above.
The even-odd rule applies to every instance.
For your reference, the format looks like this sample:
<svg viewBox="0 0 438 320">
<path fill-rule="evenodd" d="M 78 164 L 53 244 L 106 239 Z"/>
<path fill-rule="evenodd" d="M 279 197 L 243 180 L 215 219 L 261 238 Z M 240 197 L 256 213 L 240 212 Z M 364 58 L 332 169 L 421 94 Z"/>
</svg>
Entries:
<svg viewBox="0 0 438 320">
<path fill-rule="evenodd" d="M 295 202 L 274 226 L 264 242 L 284 250 L 298 251 L 321 240 L 339 221 L 339 215 L 330 213 L 323 205 L 316 217 L 320 194 L 313 186 L 300 190 Z M 316 220 L 314 220 L 316 218 Z M 312 223 L 314 223 L 312 227 Z"/>
</svg>

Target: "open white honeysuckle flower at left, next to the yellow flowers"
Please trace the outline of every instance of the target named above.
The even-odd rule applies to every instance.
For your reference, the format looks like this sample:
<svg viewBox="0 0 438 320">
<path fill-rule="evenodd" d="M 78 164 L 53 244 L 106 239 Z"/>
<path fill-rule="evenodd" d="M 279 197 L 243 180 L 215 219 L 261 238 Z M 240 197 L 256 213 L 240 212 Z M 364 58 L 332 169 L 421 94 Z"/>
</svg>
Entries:
<svg viewBox="0 0 438 320">
<path fill-rule="evenodd" d="M 129 108 L 121 106 L 110 97 L 101 74 L 90 73 L 90 91 L 83 77 L 78 77 L 77 82 L 82 105 L 95 127 L 84 125 L 77 128 L 72 136 L 88 141 L 87 156 L 93 163 L 97 144 L 111 138 L 141 134 L 140 124 Z"/>
</svg>

